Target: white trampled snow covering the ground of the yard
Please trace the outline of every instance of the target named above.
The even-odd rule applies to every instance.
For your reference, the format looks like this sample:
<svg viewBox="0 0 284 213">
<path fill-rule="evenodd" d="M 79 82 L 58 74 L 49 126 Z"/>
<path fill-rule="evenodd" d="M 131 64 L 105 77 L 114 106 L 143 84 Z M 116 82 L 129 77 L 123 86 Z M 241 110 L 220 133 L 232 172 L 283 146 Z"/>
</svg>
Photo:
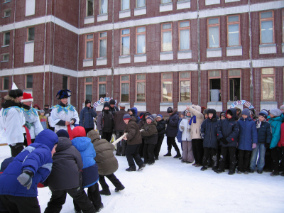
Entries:
<svg viewBox="0 0 284 213">
<path fill-rule="evenodd" d="M 180 143 L 178 143 L 180 147 Z M 10 155 L 9 146 L 0 147 L 0 162 Z M 126 172 L 125 157 L 117 157 L 119 170 L 114 173 L 125 190 L 110 196 L 102 195 L 104 212 L 284 212 L 284 177 L 270 173 L 249 175 L 217 174 L 211 169 L 201 171 L 192 164 L 180 163 L 167 153 L 166 138 L 154 165 L 141 172 Z M 174 148 L 172 155 L 175 155 Z M 44 212 L 51 197 L 48 187 L 38 189 L 40 209 Z M 75 212 L 72 198 L 67 195 L 62 213 Z"/>
</svg>

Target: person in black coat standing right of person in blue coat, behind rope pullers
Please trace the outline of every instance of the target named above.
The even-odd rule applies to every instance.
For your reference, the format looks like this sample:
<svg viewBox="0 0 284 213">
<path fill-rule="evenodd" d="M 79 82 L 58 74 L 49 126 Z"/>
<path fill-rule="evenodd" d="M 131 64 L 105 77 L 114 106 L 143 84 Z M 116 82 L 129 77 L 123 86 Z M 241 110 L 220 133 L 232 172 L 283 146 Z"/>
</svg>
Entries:
<svg viewBox="0 0 284 213">
<path fill-rule="evenodd" d="M 99 135 L 107 141 L 111 141 L 114 131 L 114 115 L 109 110 L 109 102 L 104 103 L 104 109 L 99 113 L 97 119 L 97 129 Z"/>
</svg>

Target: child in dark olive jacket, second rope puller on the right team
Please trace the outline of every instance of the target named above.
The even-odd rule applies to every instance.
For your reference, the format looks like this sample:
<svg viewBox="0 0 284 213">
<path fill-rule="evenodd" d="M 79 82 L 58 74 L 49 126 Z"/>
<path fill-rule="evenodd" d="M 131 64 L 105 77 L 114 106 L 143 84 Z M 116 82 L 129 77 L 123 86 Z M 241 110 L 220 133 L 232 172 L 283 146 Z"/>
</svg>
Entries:
<svg viewBox="0 0 284 213">
<path fill-rule="evenodd" d="M 146 119 L 146 124 L 142 127 L 141 136 L 145 138 L 145 144 L 143 148 L 144 163 L 153 165 L 155 163 L 154 149 L 158 140 L 157 122 L 152 115 L 149 115 Z"/>
</svg>

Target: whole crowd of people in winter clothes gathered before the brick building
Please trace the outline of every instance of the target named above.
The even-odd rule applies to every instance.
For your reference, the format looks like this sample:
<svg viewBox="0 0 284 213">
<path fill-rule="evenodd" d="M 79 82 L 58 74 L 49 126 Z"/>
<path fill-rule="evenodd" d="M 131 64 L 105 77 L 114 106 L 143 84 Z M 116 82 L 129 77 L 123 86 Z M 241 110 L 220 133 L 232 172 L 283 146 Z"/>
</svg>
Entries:
<svg viewBox="0 0 284 213">
<path fill-rule="evenodd" d="M 31 94 L 15 84 L 4 98 L 0 135 L 12 157 L 1 164 L 0 213 L 40 212 L 38 187 L 51 191 L 45 212 L 60 212 L 67 194 L 73 198 L 75 212 L 99 212 L 104 208 L 101 195 L 111 195 L 105 178 L 115 192 L 125 188 L 114 175 L 119 168 L 114 151 L 126 157 L 126 171 L 141 171 L 159 160 L 165 136 L 164 157 L 172 156 L 173 147 L 173 158 L 202 171 L 229 169 L 233 175 L 256 170 L 284 176 L 284 105 L 262 109 L 258 118 L 248 108 L 231 108 L 219 117 L 214 109 L 198 105 L 180 113 L 168 107 L 165 119 L 148 111 L 138 115 L 136 107 L 126 111 L 124 103 L 118 108 L 113 99 L 97 115 L 87 99 L 79 116 L 67 103 L 70 92 L 60 90 L 59 104 L 42 110 L 31 107 Z M 110 143 L 114 138 L 121 138 L 116 147 Z"/>
</svg>

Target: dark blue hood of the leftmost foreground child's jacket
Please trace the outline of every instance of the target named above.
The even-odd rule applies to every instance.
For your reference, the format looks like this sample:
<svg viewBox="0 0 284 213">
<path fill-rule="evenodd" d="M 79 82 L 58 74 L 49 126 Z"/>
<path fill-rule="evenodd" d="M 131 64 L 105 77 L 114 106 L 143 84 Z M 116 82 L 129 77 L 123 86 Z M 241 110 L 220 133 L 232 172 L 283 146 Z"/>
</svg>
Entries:
<svg viewBox="0 0 284 213">
<path fill-rule="evenodd" d="M 50 151 L 52 151 L 55 143 L 58 143 L 58 135 L 50 129 L 44 129 L 35 137 L 34 143 L 44 144 L 45 146 L 48 146 Z"/>
</svg>

